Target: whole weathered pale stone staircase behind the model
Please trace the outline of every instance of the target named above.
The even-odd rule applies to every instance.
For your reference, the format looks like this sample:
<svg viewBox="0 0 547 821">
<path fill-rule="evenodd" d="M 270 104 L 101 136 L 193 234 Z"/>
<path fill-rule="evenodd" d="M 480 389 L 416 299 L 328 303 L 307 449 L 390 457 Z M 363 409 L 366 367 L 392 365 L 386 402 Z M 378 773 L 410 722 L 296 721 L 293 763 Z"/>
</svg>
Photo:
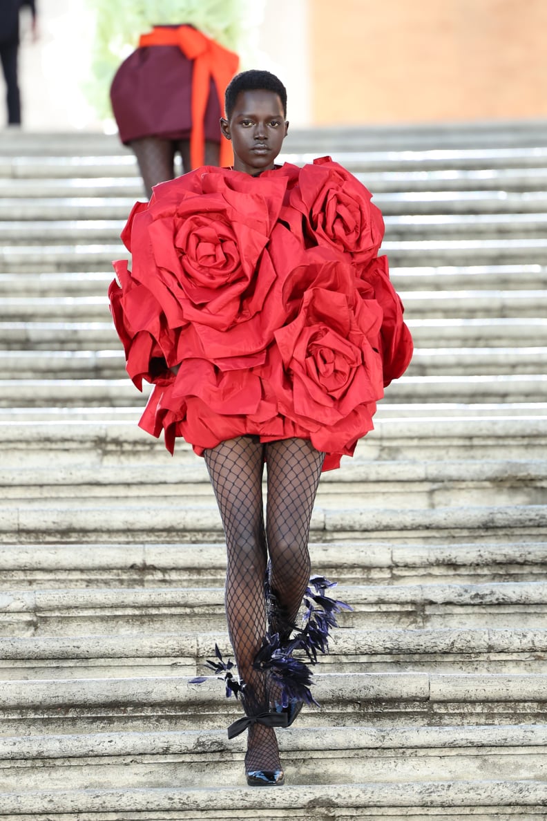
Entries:
<svg viewBox="0 0 547 821">
<path fill-rule="evenodd" d="M 0 135 L 0 819 L 547 817 L 545 123 L 300 131 L 374 192 L 416 354 L 321 479 L 353 605 L 244 785 L 203 461 L 136 426 L 107 309 L 141 196 L 103 135 Z"/>
</svg>

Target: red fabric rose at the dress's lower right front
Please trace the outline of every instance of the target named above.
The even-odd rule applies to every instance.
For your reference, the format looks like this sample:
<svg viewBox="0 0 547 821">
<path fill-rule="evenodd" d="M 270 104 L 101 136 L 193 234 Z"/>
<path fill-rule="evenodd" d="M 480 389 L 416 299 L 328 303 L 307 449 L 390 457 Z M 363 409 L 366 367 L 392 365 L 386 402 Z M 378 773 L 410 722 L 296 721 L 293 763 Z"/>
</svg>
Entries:
<svg viewBox="0 0 547 821">
<path fill-rule="evenodd" d="M 336 424 L 362 403 L 382 397 L 381 358 L 367 338 L 376 338 L 380 323 L 374 301 L 355 314 L 343 294 L 306 291 L 298 317 L 276 331 L 292 383 L 293 407 L 285 406 L 281 395 L 280 410 L 317 424 Z"/>
</svg>

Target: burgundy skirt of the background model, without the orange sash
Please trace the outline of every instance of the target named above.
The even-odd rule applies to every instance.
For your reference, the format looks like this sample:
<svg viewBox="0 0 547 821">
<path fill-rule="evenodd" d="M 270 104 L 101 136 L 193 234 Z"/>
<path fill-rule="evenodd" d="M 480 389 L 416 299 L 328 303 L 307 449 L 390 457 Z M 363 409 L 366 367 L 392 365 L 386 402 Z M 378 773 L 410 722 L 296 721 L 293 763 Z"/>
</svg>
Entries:
<svg viewBox="0 0 547 821">
<path fill-rule="evenodd" d="M 193 61 L 178 46 L 137 48 L 116 71 L 110 89 L 122 143 L 143 137 L 189 140 Z M 220 143 L 221 103 L 209 85 L 205 139 Z"/>
</svg>

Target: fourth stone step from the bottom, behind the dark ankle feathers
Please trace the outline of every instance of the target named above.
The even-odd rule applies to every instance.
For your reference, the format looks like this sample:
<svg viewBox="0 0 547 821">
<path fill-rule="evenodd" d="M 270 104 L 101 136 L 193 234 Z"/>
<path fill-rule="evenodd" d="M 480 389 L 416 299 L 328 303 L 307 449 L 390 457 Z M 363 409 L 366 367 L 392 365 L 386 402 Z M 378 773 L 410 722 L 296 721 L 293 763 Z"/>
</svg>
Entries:
<svg viewBox="0 0 547 821">
<path fill-rule="evenodd" d="M 335 632 L 321 672 L 547 673 L 545 628 Z M 0 681 L 201 676 L 211 672 L 205 662 L 216 644 L 225 659 L 233 657 L 226 629 L 0 638 Z"/>
</svg>

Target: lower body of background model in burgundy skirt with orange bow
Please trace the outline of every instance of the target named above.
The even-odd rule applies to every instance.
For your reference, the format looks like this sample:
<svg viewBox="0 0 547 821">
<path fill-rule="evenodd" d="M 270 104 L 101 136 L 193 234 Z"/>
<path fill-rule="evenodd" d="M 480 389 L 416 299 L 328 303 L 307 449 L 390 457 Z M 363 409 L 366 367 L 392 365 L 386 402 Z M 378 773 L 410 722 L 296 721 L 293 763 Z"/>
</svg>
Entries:
<svg viewBox="0 0 547 821">
<path fill-rule="evenodd" d="M 192 25 L 155 25 L 116 71 L 110 91 L 123 143 L 139 163 L 148 197 L 153 186 L 183 172 L 229 165 L 221 150 L 221 104 L 239 58 Z M 227 150 L 226 150 L 227 149 Z"/>
</svg>

